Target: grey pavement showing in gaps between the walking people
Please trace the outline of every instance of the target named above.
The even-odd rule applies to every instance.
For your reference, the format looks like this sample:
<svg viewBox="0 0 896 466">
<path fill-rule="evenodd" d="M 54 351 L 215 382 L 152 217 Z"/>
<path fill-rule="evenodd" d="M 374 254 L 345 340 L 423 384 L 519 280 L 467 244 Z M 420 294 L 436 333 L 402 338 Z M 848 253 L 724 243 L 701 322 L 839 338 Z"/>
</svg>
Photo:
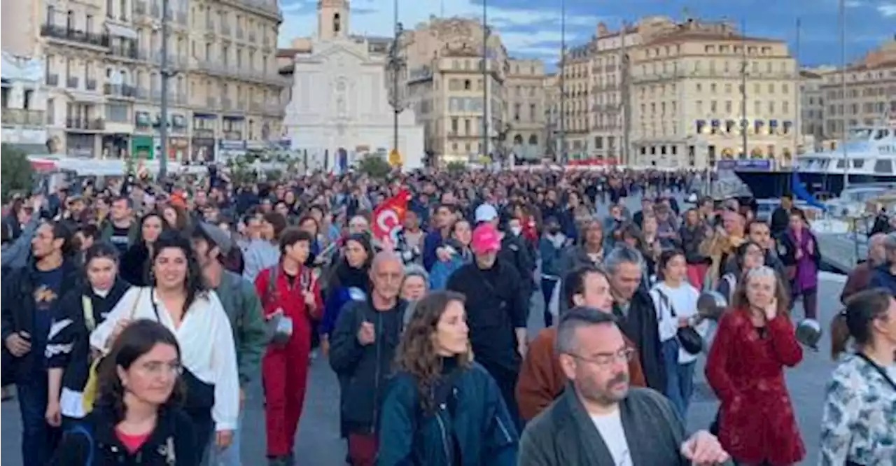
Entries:
<svg viewBox="0 0 896 466">
<path fill-rule="evenodd" d="M 637 209 L 637 201 L 632 200 L 630 208 Z M 845 281 L 842 275 L 822 272 L 819 287 L 819 317 L 823 328 L 840 310 L 840 289 Z M 530 335 L 543 327 L 540 293 L 535 293 L 533 310 L 530 313 Z M 802 315 L 799 304 L 796 316 Z M 788 369 L 788 390 L 797 412 L 797 422 L 806 444 L 806 460 L 801 464 L 818 462 L 818 439 L 821 426 L 824 385 L 828 382 L 834 367 L 827 353 L 830 342 L 825 334 L 819 352 L 804 351 L 803 361 L 795 368 Z M 687 427 L 690 430 L 708 428 L 718 409 L 711 389 L 705 382 L 702 370 L 703 359 L 696 372 L 695 391 L 688 412 Z M 296 436 L 298 464 L 302 466 L 340 466 L 345 460 L 345 444 L 339 436 L 339 385 L 327 362 L 317 359 L 311 366 L 305 410 Z M 264 461 L 264 411 L 261 388 L 257 384 L 248 393 L 246 420 L 242 432 L 242 457 L 245 466 L 265 466 Z M 20 466 L 21 425 L 18 406 L 15 401 L 0 403 L 0 466 Z"/>
</svg>

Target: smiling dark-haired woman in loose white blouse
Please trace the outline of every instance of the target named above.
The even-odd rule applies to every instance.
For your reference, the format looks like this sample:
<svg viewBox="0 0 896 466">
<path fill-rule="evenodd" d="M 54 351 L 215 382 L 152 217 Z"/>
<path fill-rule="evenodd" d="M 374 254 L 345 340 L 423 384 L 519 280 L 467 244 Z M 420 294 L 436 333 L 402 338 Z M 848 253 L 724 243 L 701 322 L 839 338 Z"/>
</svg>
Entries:
<svg viewBox="0 0 896 466">
<path fill-rule="evenodd" d="M 90 334 L 90 346 L 108 351 L 127 324 L 150 319 L 177 336 L 184 366 L 184 409 L 194 424 L 199 451 L 211 440 L 230 444 L 239 413 L 239 379 L 233 332 L 218 295 L 202 285 L 190 242 L 163 233 L 150 263 L 150 287 L 132 288 Z"/>
</svg>

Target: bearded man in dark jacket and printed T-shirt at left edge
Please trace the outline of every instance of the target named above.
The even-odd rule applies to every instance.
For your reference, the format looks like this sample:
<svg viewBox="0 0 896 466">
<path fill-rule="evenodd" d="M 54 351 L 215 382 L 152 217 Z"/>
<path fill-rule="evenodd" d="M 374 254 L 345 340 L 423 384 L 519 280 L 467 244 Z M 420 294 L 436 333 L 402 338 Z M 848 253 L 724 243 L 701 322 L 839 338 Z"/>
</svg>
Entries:
<svg viewBox="0 0 896 466">
<path fill-rule="evenodd" d="M 41 223 L 31 239 L 31 254 L 33 262 L 10 272 L 0 292 L 0 341 L 15 360 L 23 463 L 44 466 L 59 439 L 57 429 L 44 418 L 47 358 L 55 355 L 45 354 L 47 341 L 59 331 L 53 328 L 59 298 L 75 288 L 80 271 L 69 259 L 72 232 L 63 223 Z"/>
</svg>

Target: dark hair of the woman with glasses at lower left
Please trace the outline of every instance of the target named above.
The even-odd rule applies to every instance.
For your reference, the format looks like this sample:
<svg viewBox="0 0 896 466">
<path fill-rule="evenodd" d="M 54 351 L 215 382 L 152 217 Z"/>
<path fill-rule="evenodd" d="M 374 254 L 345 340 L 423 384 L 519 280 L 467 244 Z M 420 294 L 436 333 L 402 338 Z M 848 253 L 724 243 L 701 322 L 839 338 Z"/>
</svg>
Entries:
<svg viewBox="0 0 896 466">
<path fill-rule="evenodd" d="M 100 363 L 99 393 L 96 404 L 98 407 L 109 410 L 116 424 L 125 419 L 127 411 L 125 387 L 121 384 L 121 378 L 118 377 L 118 367 L 125 370 L 130 368 L 134 361 L 159 344 L 173 347 L 177 351 L 177 359 L 180 359 L 180 346 L 177 344 L 177 337 L 174 336 L 174 333 L 158 322 L 141 319 L 125 327 L 125 330 L 112 344 L 112 350 L 108 357 Z M 183 401 L 183 393 L 180 377 L 177 377 L 174 392 L 162 405 L 162 409 L 179 405 Z"/>
</svg>

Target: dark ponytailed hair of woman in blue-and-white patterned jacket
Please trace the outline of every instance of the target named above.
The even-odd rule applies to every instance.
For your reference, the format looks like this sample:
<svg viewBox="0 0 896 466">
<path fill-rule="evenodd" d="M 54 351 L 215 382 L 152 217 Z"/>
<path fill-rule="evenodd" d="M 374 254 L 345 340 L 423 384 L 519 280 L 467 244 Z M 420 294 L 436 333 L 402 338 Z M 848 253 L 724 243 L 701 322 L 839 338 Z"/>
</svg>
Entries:
<svg viewBox="0 0 896 466">
<path fill-rule="evenodd" d="M 831 320 L 831 358 L 846 351 L 850 339 L 859 348 L 871 344 L 872 322 L 887 315 L 891 299 L 890 291 L 883 288 L 865 289 L 849 297 L 846 309 Z"/>
</svg>

